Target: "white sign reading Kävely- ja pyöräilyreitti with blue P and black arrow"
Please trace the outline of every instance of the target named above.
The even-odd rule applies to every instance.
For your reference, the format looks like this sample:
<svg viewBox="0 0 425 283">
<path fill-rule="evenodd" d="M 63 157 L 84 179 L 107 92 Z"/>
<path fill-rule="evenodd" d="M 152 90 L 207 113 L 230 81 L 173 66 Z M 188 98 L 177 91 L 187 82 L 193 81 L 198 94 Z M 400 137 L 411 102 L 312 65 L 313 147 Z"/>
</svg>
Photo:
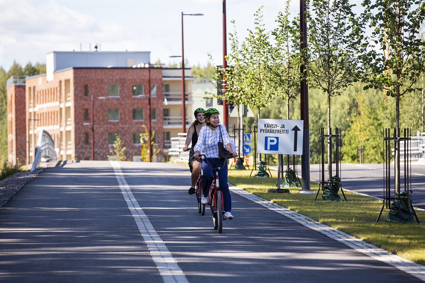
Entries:
<svg viewBox="0 0 425 283">
<path fill-rule="evenodd" d="M 303 154 L 303 120 L 258 119 L 257 153 Z"/>
</svg>

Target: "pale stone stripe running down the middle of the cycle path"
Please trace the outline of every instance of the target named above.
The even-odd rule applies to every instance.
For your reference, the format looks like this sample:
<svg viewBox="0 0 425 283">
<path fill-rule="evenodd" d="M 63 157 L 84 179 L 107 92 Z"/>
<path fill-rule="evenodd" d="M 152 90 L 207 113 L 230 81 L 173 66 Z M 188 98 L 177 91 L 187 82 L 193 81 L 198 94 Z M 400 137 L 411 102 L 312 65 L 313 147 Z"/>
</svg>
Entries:
<svg viewBox="0 0 425 283">
<path fill-rule="evenodd" d="M 142 235 L 144 243 L 149 250 L 153 262 L 158 268 L 162 280 L 164 283 L 189 283 L 176 260 L 173 258 L 173 255 L 171 255 L 171 252 L 168 250 L 164 241 L 162 241 L 158 232 L 156 232 L 149 218 L 144 213 L 142 207 L 140 207 L 139 202 L 137 202 L 137 199 L 134 197 L 130 186 L 125 180 L 124 174 L 122 174 L 119 162 L 110 162 L 128 210 L 130 210 L 130 213 L 136 222 L 140 235 Z"/>
</svg>

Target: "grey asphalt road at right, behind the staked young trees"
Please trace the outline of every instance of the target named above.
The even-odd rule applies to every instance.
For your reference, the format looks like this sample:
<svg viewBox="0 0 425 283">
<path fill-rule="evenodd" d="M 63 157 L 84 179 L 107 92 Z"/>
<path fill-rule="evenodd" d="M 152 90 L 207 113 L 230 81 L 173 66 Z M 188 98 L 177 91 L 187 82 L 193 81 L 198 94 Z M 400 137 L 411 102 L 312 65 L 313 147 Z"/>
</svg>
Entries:
<svg viewBox="0 0 425 283">
<path fill-rule="evenodd" d="M 332 165 L 335 174 L 335 164 Z M 300 167 L 300 166 L 298 166 Z M 391 165 L 391 188 L 394 196 L 394 164 Z M 310 179 L 319 181 L 320 171 L 318 164 L 310 165 Z M 383 198 L 384 170 L 382 164 L 341 164 L 341 185 L 343 188 L 365 193 L 370 196 Z M 327 179 L 325 165 L 325 179 Z M 301 172 L 299 172 L 300 175 Z M 401 189 L 404 189 L 404 168 L 402 168 Z M 425 209 L 425 165 L 412 163 L 411 166 L 412 204 Z"/>
</svg>

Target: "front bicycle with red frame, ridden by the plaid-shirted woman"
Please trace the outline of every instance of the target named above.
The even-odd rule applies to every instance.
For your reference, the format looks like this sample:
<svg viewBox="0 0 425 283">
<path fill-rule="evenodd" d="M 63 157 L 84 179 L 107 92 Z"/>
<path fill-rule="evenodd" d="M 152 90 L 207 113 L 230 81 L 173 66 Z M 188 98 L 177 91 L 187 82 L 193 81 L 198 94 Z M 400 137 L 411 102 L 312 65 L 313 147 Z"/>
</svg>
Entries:
<svg viewBox="0 0 425 283">
<path fill-rule="evenodd" d="M 230 156 L 232 154 L 228 154 L 227 156 Z M 204 160 L 207 162 L 208 167 L 212 170 L 212 176 L 214 177 L 214 181 L 212 182 L 212 185 L 210 186 L 209 191 L 209 202 L 208 205 L 210 205 L 210 209 L 212 212 L 212 222 L 214 224 L 214 229 L 218 230 L 218 233 L 221 233 L 223 231 L 223 193 L 220 191 L 220 185 L 218 181 L 218 174 L 217 172 L 224 168 L 224 164 L 227 162 L 227 159 L 224 159 L 223 166 L 217 167 L 215 165 L 210 165 L 208 162 L 207 157 L 204 154 L 199 154 L 199 157 L 204 157 Z M 204 214 L 202 214 L 204 215 Z M 224 219 L 224 220 L 231 220 Z"/>
</svg>

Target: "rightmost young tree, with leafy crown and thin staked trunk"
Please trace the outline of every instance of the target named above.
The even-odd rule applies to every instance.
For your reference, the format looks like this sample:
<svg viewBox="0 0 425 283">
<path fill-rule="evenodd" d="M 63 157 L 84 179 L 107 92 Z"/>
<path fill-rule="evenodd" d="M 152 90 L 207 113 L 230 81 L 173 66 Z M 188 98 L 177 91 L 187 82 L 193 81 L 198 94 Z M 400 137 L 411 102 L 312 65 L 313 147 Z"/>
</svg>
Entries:
<svg viewBox="0 0 425 283">
<path fill-rule="evenodd" d="M 425 43 L 419 36 L 425 20 L 425 3 L 419 0 L 365 0 L 360 22 L 374 28 L 363 38 L 361 59 L 368 88 L 380 88 L 396 101 L 396 133 L 400 136 L 400 97 L 414 90 L 416 79 L 425 70 Z M 376 47 L 380 47 L 377 50 Z M 418 89 L 419 91 L 422 89 Z M 395 148 L 395 187 L 400 191 L 400 143 Z"/>
</svg>

